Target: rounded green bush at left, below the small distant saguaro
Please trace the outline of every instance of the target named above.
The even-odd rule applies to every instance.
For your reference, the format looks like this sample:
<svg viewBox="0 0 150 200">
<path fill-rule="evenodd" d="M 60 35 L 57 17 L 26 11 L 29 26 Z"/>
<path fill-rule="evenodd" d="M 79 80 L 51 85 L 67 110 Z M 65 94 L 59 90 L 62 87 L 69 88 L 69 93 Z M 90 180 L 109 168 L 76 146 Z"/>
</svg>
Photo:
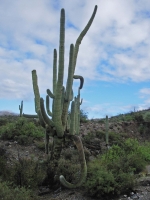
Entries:
<svg viewBox="0 0 150 200">
<path fill-rule="evenodd" d="M 33 122 L 21 117 L 16 122 L 8 123 L 0 129 L 2 139 L 17 140 L 21 144 L 27 144 L 32 139 L 39 139 L 44 136 L 42 127 L 37 127 Z"/>
</svg>

